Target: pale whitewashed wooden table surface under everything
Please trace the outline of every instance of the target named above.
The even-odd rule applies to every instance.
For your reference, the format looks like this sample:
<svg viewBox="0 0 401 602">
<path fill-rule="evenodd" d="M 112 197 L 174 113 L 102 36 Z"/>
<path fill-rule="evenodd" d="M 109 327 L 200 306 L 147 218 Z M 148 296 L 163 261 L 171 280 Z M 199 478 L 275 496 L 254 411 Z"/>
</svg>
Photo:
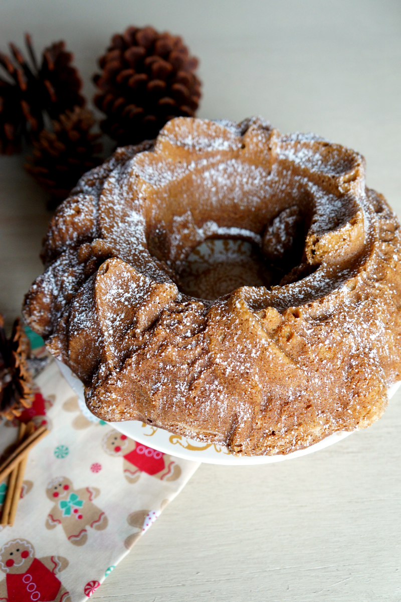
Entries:
<svg viewBox="0 0 401 602">
<path fill-rule="evenodd" d="M 65 37 L 85 78 L 108 38 L 151 23 L 201 57 L 199 116 L 262 114 L 362 152 L 367 182 L 401 214 L 399 2 L 2 0 L 0 45 Z M 92 94 L 88 84 L 85 91 Z M 0 159 L 0 311 L 9 324 L 41 272 L 48 214 L 20 165 Z M 401 403 L 314 455 L 202 465 L 92 600 L 399 602 Z"/>
</svg>

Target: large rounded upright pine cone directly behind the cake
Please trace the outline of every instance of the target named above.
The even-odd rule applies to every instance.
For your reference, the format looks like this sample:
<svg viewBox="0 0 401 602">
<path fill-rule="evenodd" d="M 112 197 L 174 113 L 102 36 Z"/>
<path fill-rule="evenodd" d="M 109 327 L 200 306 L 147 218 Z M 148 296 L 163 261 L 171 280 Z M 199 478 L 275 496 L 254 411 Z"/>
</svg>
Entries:
<svg viewBox="0 0 401 602">
<path fill-rule="evenodd" d="M 155 138 L 178 115 L 193 116 L 201 98 L 198 61 L 181 37 L 129 27 L 99 59 L 95 104 L 107 114 L 102 130 L 120 145 Z"/>
</svg>

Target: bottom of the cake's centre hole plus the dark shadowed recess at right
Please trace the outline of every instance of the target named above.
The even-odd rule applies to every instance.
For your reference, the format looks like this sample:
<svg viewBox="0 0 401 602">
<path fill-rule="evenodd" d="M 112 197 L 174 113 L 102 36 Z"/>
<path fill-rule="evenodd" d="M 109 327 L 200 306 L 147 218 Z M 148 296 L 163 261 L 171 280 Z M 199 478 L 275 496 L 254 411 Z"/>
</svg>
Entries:
<svg viewBox="0 0 401 602">
<path fill-rule="evenodd" d="M 309 223 L 310 216 L 290 206 L 267 223 L 260 244 L 249 237 L 208 238 L 181 263 L 179 289 L 190 297 L 213 301 L 236 288 L 270 288 L 305 278 L 317 268 L 306 262 L 304 253 Z"/>
</svg>

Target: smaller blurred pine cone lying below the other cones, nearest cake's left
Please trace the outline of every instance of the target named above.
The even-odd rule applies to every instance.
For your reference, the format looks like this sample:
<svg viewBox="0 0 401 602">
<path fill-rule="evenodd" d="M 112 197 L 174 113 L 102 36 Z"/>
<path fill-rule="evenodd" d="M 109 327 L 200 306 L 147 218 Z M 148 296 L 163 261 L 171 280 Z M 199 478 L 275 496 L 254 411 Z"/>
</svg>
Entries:
<svg viewBox="0 0 401 602">
<path fill-rule="evenodd" d="M 52 121 L 52 131 L 43 129 L 33 140 L 34 151 L 25 169 L 51 193 L 49 209 L 66 199 L 81 176 L 102 163 L 96 157 L 102 145 L 100 134 L 91 133 L 95 124 L 92 111 L 75 107 Z"/>
</svg>

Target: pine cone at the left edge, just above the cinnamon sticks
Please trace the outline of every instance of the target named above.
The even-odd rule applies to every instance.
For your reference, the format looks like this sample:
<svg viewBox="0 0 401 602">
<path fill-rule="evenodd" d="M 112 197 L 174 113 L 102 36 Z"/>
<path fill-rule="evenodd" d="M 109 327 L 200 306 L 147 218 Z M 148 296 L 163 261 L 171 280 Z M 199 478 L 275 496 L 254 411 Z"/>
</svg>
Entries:
<svg viewBox="0 0 401 602">
<path fill-rule="evenodd" d="M 19 319 L 14 322 L 7 341 L 0 314 L 0 416 L 12 420 L 30 408 L 34 399 L 33 381 L 26 360 L 30 343 Z"/>
</svg>

